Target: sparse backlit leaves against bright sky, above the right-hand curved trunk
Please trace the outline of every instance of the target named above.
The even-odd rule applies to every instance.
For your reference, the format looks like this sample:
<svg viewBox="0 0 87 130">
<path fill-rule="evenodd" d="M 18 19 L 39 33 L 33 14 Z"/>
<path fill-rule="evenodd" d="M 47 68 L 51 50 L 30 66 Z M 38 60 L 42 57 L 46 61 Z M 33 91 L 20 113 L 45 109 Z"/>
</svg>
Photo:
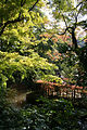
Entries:
<svg viewBox="0 0 87 130">
<path fill-rule="evenodd" d="M 73 27 L 74 24 L 79 24 L 79 26 L 82 26 L 80 22 L 84 21 L 80 20 L 80 22 L 78 22 L 78 15 L 80 14 L 84 16 L 86 14 L 86 0 L 52 0 L 51 5 L 54 6 L 53 14 L 58 21 L 62 20 L 67 24 L 67 27 Z"/>
</svg>

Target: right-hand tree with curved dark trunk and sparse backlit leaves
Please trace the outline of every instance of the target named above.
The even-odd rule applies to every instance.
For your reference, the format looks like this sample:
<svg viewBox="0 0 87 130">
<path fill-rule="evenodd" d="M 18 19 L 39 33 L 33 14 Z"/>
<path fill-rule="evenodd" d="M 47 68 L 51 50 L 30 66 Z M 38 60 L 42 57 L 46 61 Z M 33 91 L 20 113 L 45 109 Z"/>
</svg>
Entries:
<svg viewBox="0 0 87 130">
<path fill-rule="evenodd" d="M 87 22 L 82 20 L 86 15 L 87 1 L 72 1 L 72 0 L 52 0 L 51 5 L 53 6 L 53 16 L 57 22 L 62 20 L 64 22 L 65 28 L 59 35 L 64 35 L 66 31 L 72 36 L 72 42 L 74 49 L 77 49 L 77 39 L 75 30 L 77 26 L 82 26 L 86 29 Z"/>
</svg>

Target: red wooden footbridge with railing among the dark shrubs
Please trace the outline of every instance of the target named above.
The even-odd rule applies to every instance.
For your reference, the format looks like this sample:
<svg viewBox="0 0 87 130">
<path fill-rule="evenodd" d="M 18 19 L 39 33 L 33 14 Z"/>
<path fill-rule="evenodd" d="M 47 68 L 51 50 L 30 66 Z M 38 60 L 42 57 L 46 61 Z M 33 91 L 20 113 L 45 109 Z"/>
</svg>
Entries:
<svg viewBox="0 0 87 130">
<path fill-rule="evenodd" d="M 59 84 L 54 82 L 37 80 L 37 91 L 41 92 L 44 95 L 58 95 L 70 99 L 77 99 L 87 96 L 87 87 L 78 87 L 71 84 Z"/>
</svg>

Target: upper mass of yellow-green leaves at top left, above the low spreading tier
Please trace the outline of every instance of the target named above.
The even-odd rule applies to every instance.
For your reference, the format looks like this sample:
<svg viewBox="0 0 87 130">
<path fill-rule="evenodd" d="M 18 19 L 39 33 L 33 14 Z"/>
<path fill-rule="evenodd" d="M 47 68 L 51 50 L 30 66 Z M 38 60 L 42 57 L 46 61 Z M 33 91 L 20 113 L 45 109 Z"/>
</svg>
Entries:
<svg viewBox="0 0 87 130">
<path fill-rule="evenodd" d="M 39 9 L 42 5 L 41 0 L 1 1 L 1 51 L 22 52 L 37 43 L 35 31 L 46 21 Z"/>
</svg>

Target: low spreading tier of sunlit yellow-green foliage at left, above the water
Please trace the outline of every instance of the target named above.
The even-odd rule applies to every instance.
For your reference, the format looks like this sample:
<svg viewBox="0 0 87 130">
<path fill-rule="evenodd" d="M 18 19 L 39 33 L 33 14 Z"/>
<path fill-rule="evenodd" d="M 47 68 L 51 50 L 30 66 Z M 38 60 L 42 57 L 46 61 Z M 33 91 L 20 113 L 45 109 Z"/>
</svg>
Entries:
<svg viewBox="0 0 87 130">
<path fill-rule="evenodd" d="M 46 58 L 40 57 L 37 53 L 29 56 L 22 56 L 18 53 L 0 52 L 0 83 L 7 87 L 7 80 L 12 82 L 22 82 L 25 78 L 30 81 L 52 74 L 55 65 L 48 63 Z M 29 81 L 28 80 L 28 81 Z"/>
</svg>

